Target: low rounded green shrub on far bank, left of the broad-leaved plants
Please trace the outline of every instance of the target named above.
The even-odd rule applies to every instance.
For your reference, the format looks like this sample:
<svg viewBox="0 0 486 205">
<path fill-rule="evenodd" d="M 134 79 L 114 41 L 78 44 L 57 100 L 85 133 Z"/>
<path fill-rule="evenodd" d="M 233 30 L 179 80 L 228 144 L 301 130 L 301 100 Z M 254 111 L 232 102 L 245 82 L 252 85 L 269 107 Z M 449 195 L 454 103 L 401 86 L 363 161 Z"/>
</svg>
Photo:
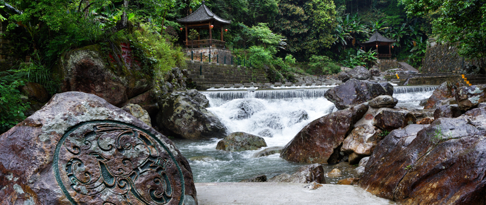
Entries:
<svg viewBox="0 0 486 205">
<path fill-rule="evenodd" d="M 341 71 L 341 66 L 333 63 L 327 56 L 312 55 L 309 59 L 309 68 L 306 72 L 311 75 L 330 75 Z"/>
</svg>

